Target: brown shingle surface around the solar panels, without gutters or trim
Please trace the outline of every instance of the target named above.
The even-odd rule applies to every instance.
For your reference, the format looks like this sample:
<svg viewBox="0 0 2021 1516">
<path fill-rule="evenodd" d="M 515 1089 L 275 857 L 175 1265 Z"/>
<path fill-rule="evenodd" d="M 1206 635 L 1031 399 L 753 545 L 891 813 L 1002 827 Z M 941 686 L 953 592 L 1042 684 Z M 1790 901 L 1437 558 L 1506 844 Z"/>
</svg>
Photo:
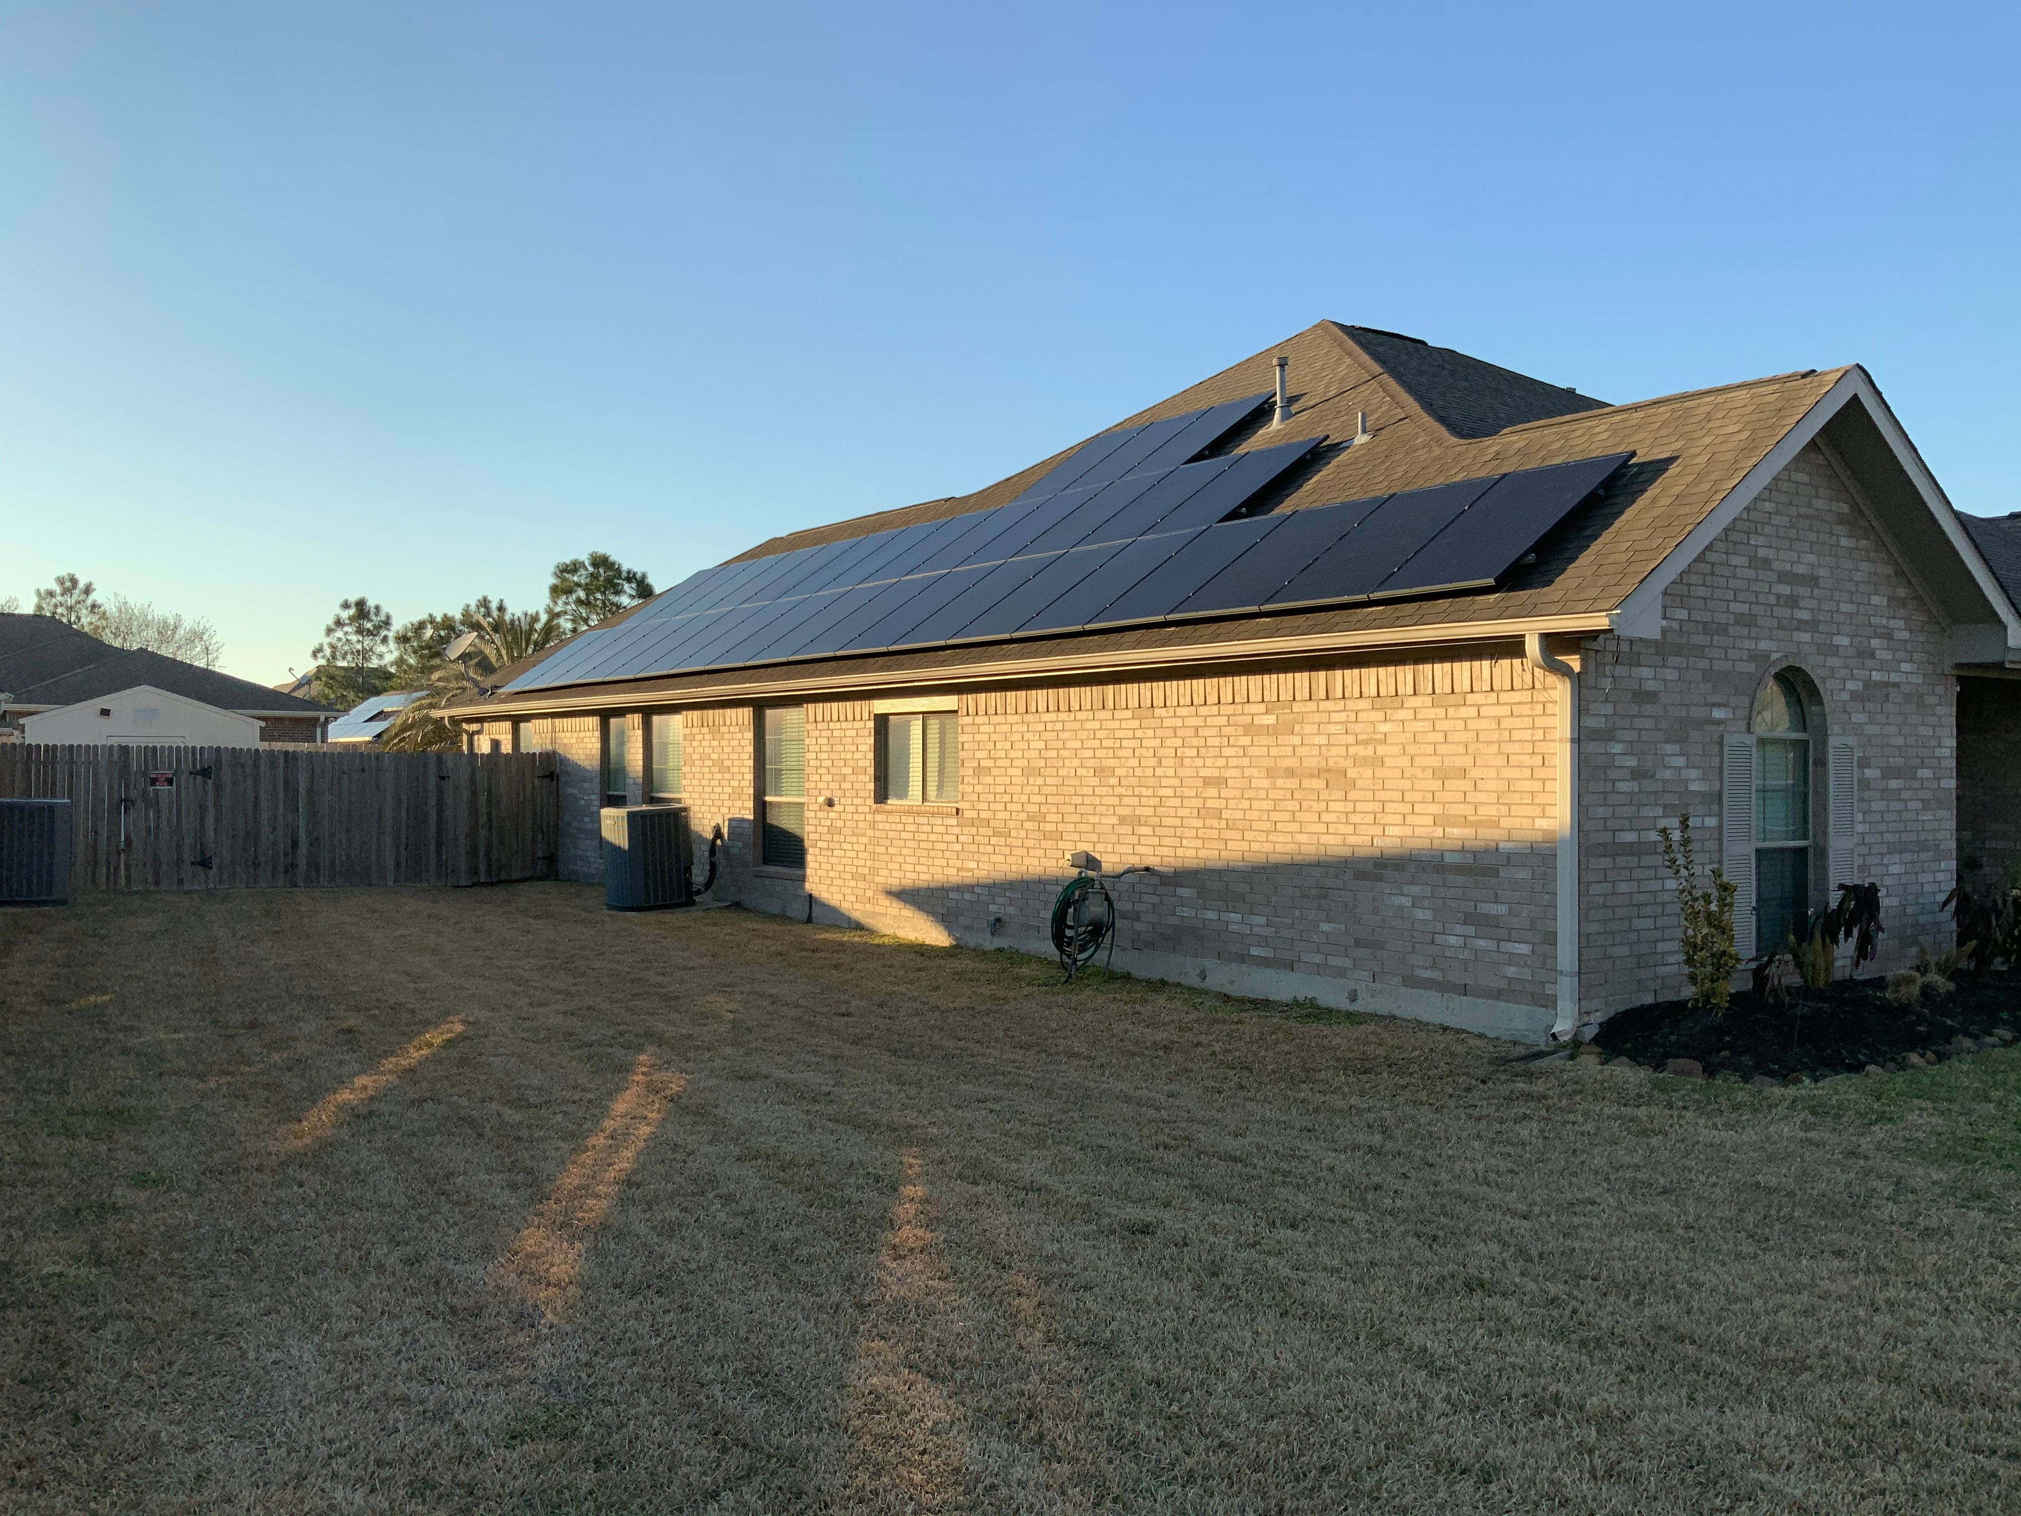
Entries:
<svg viewBox="0 0 2021 1516">
<path fill-rule="evenodd" d="M 1330 505 L 1603 453 L 1633 451 L 1635 459 L 1554 540 L 1542 544 L 1536 564 L 1520 568 L 1496 590 L 839 657 L 819 665 L 780 665 L 778 673 L 794 679 L 806 679 L 819 667 L 901 673 L 1055 657 L 1063 651 L 1099 655 L 1146 647 L 1213 649 L 1217 643 L 1257 637 L 1407 633 L 1419 627 L 1605 614 L 1615 610 L 1845 374 L 1843 368 L 1807 370 L 1633 404 L 1605 404 L 1445 348 L 1368 327 L 1320 321 L 1289 342 L 1275 344 L 1114 424 L 1158 420 L 1265 390 L 1275 380 L 1277 354 L 1289 358 L 1293 414 L 1285 427 L 1257 429 L 1239 445 L 1267 447 L 1314 435 L 1330 441 L 1314 455 L 1316 463 L 1308 465 L 1279 497 L 1269 499 L 1265 509 Z M 1372 441 L 1350 449 L 1344 441 L 1354 435 L 1358 412 L 1368 414 Z M 1479 435 L 1506 416 L 1518 420 Z M 1071 451 L 1061 449 L 970 495 L 772 538 L 730 562 L 1002 505 Z M 534 663 L 530 659 L 503 671 L 501 683 Z M 641 693 L 705 691 L 711 685 L 746 685 L 754 677 L 752 669 L 711 669 L 635 683 Z M 525 699 L 552 701 L 554 695 L 525 691 Z M 501 703 L 517 701 L 505 697 Z"/>
</svg>

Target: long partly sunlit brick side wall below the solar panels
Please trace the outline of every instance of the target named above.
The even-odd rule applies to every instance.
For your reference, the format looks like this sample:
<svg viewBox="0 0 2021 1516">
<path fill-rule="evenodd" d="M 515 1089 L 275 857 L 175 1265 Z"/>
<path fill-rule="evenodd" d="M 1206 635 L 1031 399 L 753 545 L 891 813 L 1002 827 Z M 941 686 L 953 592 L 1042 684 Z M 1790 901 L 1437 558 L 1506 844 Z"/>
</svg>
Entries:
<svg viewBox="0 0 2021 1516">
<path fill-rule="evenodd" d="M 804 875 L 754 857 L 750 707 L 683 718 L 719 899 L 930 942 L 1045 946 L 1065 855 L 1114 885 L 1118 964 L 1534 1035 L 1548 1027 L 1554 695 L 1514 647 L 960 697 L 960 802 L 875 802 L 871 701 L 806 705 Z M 594 722 L 580 750 L 594 776 Z M 643 754 L 643 742 L 639 744 Z M 596 877 L 564 766 L 564 877 Z M 833 800 L 833 804 L 829 804 Z"/>
</svg>

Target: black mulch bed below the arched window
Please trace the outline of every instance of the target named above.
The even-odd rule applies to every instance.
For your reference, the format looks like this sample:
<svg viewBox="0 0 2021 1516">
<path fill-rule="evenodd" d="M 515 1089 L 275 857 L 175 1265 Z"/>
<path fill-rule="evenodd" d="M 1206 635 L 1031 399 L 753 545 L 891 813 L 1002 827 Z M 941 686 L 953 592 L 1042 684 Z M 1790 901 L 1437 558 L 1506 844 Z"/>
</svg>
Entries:
<svg viewBox="0 0 2021 1516">
<path fill-rule="evenodd" d="M 1910 1053 L 1952 1057 L 1956 1037 L 1977 1043 L 1997 1029 L 2021 1033 L 2021 974 L 1958 970 L 1956 990 L 1904 1007 L 1880 978 L 1841 978 L 1823 990 L 1795 990 L 1787 1005 L 1734 994 L 1724 1015 L 1694 1011 L 1690 1001 L 1659 1001 L 1601 1023 L 1595 1045 L 1661 1069 L 1673 1057 L 1696 1059 L 1708 1077 L 1783 1079 L 1807 1073 L 1859 1073 Z"/>
</svg>

